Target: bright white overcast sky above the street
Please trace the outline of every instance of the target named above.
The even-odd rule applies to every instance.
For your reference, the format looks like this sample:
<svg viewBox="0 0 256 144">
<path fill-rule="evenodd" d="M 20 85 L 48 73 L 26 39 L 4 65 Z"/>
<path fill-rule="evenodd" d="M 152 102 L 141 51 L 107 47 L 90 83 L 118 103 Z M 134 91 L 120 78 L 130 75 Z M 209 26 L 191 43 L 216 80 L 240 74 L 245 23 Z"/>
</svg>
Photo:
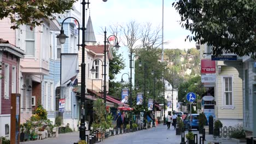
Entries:
<svg viewBox="0 0 256 144">
<path fill-rule="evenodd" d="M 150 22 L 154 27 L 162 26 L 162 0 L 108 0 L 107 2 L 91 0 L 89 2 L 91 3 L 89 8 L 96 41 L 100 43 L 104 41 L 99 35 L 101 27 L 108 27 L 116 23 L 123 24 L 132 20 L 139 23 Z M 172 7 L 173 2 L 173 0 L 164 0 L 164 41 L 169 42 L 164 48 L 189 49 L 195 47 L 194 41 L 184 41 L 185 37 L 191 33 L 179 25 L 180 17 Z"/>
</svg>

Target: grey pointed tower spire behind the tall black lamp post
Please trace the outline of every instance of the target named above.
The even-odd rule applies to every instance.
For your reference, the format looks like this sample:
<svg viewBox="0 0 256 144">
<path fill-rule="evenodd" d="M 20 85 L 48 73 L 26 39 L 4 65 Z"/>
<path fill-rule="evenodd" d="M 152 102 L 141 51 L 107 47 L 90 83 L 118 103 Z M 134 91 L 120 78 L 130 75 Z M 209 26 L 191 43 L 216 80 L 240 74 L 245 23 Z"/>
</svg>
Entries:
<svg viewBox="0 0 256 144">
<path fill-rule="evenodd" d="M 91 16 L 89 12 L 89 19 L 86 25 L 86 30 L 85 30 L 85 44 L 86 45 L 95 45 L 96 44 L 96 38 L 94 34 L 94 28 L 92 27 L 92 22 L 91 22 Z"/>
</svg>

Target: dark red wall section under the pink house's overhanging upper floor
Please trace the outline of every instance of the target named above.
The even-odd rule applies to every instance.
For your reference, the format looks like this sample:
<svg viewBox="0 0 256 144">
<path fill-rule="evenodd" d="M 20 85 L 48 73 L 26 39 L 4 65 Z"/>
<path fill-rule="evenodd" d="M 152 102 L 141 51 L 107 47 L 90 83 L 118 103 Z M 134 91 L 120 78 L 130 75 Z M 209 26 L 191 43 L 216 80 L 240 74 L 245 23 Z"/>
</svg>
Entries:
<svg viewBox="0 0 256 144">
<path fill-rule="evenodd" d="M 32 96 L 36 96 L 36 106 L 32 110 L 36 110 L 39 104 L 42 104 L 42 87 L 41 83 L 32 81 Z"/>
</svg>

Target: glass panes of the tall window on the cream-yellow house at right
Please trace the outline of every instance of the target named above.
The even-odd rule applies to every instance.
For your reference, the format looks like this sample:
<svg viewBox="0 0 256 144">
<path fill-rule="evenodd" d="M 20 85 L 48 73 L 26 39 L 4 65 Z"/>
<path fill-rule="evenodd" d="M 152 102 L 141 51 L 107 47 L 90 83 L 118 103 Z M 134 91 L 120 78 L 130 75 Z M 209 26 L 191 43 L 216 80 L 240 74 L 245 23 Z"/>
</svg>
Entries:
<svg viewBox="0 0 256 144">
<path fill-rule="evenodd" d="M 224 79 L 224 105 L 232 105 L 232 77 L 223 77 Z"/>
</svg>

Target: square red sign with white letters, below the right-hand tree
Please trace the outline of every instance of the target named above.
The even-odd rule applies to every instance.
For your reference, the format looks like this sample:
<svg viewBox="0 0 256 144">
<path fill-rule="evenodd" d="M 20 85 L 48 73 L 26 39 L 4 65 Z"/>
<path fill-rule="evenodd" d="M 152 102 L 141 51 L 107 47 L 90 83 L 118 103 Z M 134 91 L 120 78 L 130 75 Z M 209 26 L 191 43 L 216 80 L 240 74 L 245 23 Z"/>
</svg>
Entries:
<svg viewBox="0 0 256 144">
<path fill-rule="evenodd" d="M 201 73 L 214 74 L 216 73 L 216 62 L 211 59 L 201 59 Z"/>
</svg>

